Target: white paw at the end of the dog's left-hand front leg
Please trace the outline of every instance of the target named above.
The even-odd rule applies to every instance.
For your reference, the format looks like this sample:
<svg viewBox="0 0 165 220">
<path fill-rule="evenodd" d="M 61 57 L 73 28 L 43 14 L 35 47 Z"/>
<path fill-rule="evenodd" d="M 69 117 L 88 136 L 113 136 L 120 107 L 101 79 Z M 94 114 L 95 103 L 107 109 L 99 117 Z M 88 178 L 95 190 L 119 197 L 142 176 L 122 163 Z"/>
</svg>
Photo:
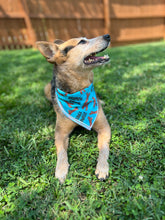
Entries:
<svg viewBox="0 0 165 220">
<path fill-rule="evenodd" d="M 69 164 L 62 164 L 61 166 L 56 167 L 55 177 L 59 179 L 60 183 L 64 183 L 66 176 L 68 174 Z"/>
</svg>

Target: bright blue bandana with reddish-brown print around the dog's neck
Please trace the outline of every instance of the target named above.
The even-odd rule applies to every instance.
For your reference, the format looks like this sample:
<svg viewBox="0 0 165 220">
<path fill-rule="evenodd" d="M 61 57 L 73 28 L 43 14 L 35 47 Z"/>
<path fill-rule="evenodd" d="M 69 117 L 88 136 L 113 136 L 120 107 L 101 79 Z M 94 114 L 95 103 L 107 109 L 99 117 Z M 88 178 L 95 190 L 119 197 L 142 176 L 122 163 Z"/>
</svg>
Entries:
<svg viewBox="0 0 165 220">
<path fill-rule="evenodd" d="M 73 94 L 65 93 L 60 89 L 56 89 L 55 94 L 57 103 L 65 116 L 91 130 L 98 114 L 98 103 L 93 83 Z"/>
</svg>

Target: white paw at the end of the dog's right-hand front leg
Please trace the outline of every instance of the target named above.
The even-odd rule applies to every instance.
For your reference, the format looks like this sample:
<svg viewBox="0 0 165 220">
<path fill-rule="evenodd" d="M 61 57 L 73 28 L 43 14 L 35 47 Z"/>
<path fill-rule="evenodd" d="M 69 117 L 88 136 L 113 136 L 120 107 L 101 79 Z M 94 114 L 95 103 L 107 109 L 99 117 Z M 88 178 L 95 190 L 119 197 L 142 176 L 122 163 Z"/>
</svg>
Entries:
<svg viewBox="0 0 165 220">
<path fill-rule="evenodd" d="M 109 176 L 109 164 L 108 162 L 97 163 L 95 174 L 101 181 L 105 180 Z"/>
</svg>

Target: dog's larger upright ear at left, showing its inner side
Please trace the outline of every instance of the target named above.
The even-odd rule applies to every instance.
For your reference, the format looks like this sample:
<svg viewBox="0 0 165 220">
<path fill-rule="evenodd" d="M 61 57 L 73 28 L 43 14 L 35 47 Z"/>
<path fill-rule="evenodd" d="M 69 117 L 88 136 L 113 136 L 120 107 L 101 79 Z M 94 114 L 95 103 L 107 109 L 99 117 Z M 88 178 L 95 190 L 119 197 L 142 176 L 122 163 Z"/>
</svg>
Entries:
<svg viewBox="0 0 165 220">
<path fill-rule="evenodd" d="M 56 44 L 47 41 L 37 41 L 36 45 L 40 53 L 46 57 L 48 62 L 55 63 L 54 55 L 58 51 L 58 46 Z"/>
</svg>

